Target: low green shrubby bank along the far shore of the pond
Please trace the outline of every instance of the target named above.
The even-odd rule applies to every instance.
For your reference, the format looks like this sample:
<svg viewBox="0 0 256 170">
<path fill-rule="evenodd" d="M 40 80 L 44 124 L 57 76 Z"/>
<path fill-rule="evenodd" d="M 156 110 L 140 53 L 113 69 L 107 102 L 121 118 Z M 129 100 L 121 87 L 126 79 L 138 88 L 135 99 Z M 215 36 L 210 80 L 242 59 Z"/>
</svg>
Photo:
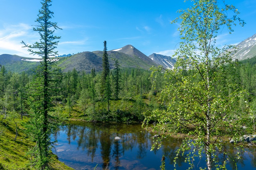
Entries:
<svg viewBox="0 0 256 170">
<path fill-rule="evenodd" d="M 155 97 L 154 97 L 155 98 Z M 58 105 L 57 114 L 62 119 L 81 120 L 86 122 L 122 122 L 134 123 L 144 120 L 144 113 L 150 112 L 159 105 L 155 99 L 148 95 L 135 98 L 125 98 L 118 100 L 110 100 L 109 110 L 107 102 L 97 101 L 95 104 L 89 103 L 81 105 L 74 104 L 72 107 L 66 105 Z"/>
</svg>

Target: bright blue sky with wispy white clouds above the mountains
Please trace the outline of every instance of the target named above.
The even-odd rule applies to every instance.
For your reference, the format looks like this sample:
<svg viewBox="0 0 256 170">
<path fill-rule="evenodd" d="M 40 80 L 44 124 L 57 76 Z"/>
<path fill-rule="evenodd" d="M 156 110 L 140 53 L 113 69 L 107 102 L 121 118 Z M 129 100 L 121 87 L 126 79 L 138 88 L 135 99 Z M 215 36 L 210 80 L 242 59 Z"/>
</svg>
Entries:
<svg viewBox="0 0 256 170">
<path fill-rule="evenodd" d="M 222 3 L 222 1 L 219 1 Z M 225 29 L 218 36 L 217 45 L 237 44 L 256 33 L 256 0 L 226 0 L 240 11 L 244 27 L 234 27 L 228 34 Z M 29 55 L 21 48 L 21 41 L 32 44 L 39 40 L 32 25 L 41 8 L 39 0 L 0 0 L 0 55 Z M 60 55 L 83 51 L 108 50 L 131 44 L 145 55 L 158 53 L 172 55 L 178 48 L 180 36 L 178 23 L 170 21 L 179 16 L 177 10 L 186 9 L 192 3 L 183 0 L 53 0 L 50 10 L 53 22 L 62 30 L 57 50 Z"/>
</svg>

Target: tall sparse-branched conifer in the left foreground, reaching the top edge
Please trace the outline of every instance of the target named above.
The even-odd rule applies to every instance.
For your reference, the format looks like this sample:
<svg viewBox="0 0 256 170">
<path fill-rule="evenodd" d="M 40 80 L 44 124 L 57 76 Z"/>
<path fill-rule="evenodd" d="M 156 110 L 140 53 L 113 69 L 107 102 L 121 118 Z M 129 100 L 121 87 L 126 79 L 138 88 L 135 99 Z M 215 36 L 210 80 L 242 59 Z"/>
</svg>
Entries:
<svg viewBox="0 0 256 170">
<path fill-rule="evenodd" d="M 49 57 L 57 55 L 55 51 L 56 45 L 60 39 L 54 36 L 54 30 L 60 29 L 57 23 L 51 22 L 54 12 L 49 10 L 51 0 L 42 0 L 42 7 L 39 10 L 38 18 L 35 22 L 37 25 L 33 31 L 37 31 L 40 35 L 40 41 L 32 45 L 27 45 L 22 41 L 24 47 L 29 48 L 30 54 L 38 55 L 43 58 L 41 65 L 37 68 L 37 77 L 33 82 L 34 93 L 31 95 L 30 107 L 33 110 L 31 119 L 29 121 L 28 130 L 37 142 L 34 154 L 37 154 L 37 159 L 34 160 L 34 166 L 37 169 L 48 169 L 50 167 L 51 153 L 50 135 L 54 130 L 54 119 L 50 116 L 51 111 L 51 85 L 53 83 L 53 68 Z M 54 29 L 54 30 L 51 30 Z M 35 49 L 35 50 L 34 50 Z"/>
</svg>

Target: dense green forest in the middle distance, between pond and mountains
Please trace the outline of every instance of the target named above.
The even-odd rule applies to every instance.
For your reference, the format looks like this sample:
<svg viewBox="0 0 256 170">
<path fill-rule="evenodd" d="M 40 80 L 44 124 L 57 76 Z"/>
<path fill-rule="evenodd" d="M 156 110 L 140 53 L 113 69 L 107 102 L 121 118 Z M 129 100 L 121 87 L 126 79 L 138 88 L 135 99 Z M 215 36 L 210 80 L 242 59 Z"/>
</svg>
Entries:
<svg viewBox="0 0 256 170">
<path fill-rule="evenodd" d="M 242 62 L 234 61 L 236 68 L 232 67 L 230 69 L 228 66 L 225 68 L 231 71 L 225 79 L 226 83 L 235 81 L 239 88 L 246 92 L 245 100 L 249 107 L 242 101 L 234 103 L 237 110 L 247 113 L 241 120 L 241 127 L 246 126 L 247 129 L 243 132 L 240 131 L 241 134 L 255 132 L 255 58 Z M 117 67 L 117 69 L 110 70 L 110 96 L 105 97 L 101 88 L 102 72 L 95 72 L 92 69 L 91 73 L 86 73 L 73 69 L 67 73 L 62 73 L 57 70 L 54 73 L 55 81 L 51 85 L 54 109 L 50 114 L 58 117 L 61 121 L 143 122 L 145 116 L 150 115 L 153 110 L 159 109 L 164 112 L 168 107 L 166 105 L 168 98 L 161 91 L 171 83 L 171 80 L 164 78 L 163 71 L 165 70 L 161 70 L 158 76 L 155 77 L 156 73 L 140 68 Z M 37 75 L 31 71 L 11 72 L 6 70 L 4 66 L 1 66 L 0 73 L 1 140 L 3 142 L 3 136 L 6 135 L 6 126 L 11 128 L 13 134 L 17 130 L 18 139 L 27 138 L 28 136 L 19 138 L 19 133 L 24 131 L 24 124 L 21 120 L 27 122 L 32 113 L 30 98 L 33 95 L 32 93 L 35 92 Z M 193 74 L 193 71 L 183 70 L 183 73 L 189 75 Z M 194 79 L 194 81 L 196 83 L 197 80 Z M 155 120 L 156 118 L 150 117 L 149 122 L 153 123 Z M 15 124 L 17 126 L 13 126 Z M 179 132 L 184 133 L 182 130 Z M 15 139 L 10 138 L 8 140 L 15 141 L 17 136 L 15 136 Z"/>
</svg>

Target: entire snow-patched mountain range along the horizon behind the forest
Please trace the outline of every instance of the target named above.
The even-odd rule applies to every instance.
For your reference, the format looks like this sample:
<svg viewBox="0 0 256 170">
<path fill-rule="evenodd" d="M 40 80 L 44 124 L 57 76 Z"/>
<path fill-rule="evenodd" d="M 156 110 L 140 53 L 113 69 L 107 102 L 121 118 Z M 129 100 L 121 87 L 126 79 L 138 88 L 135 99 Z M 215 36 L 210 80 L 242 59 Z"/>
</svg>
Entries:
<svg viewBox="0 0 256 170">
<path fill-rule="evenodd" d="M 244 60 L 252 58 L 256 55 L 256 34 L 240 42 L 235 49 L 229 49 L 233 60 Z M 126 45 L 122 48 L 113 49 L 108 52 L 110 68 L 114 68 L 114 60 L 118 60 L 121 67 L 138 67 L 149 70 L 152 66 L 162 65 L 167 69 L 173 69 L 176 58 L 170 56 L 153 53 L 146 56 L 132 45 Z M 85 70 L 90 72 L 92 68 L 95 71 L 102 70 L 103 51 L 82 52 L 75 55 L 61 55 L 56 63 L 63 72 L 73 70 Z M 7 70 L 21 72 L 23 70 L 31 70 L 36 67 L 39 62 L 38 58 L 27 58 L 18 55 L 2 54 L 0 55 L 0 64 L 4 65 Z"/>
</svg>

